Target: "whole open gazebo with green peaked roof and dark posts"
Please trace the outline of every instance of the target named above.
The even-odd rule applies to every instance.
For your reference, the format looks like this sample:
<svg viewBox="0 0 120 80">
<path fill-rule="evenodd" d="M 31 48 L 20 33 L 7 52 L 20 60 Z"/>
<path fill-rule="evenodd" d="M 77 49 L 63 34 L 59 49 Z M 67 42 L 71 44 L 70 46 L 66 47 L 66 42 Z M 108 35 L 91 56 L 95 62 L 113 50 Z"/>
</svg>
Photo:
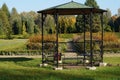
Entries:
<svg viewBox="0 0 120 80">
<path fill-rule="evenodd" d="M 86 48 L 85 48 L 85 44 L 86 44 L 85 16 L 86 15 L 90 16 L 89 17 L 89 19 L 90 19 L 89 25 L 90 25 L 90 66 L 91 67 L 93 66 L 93 63 L 92 63 L 93 62 L 92 16 L 96 13 L 100 14 L 101 28 L 102 28 L 101 29 L 101 55 L 100 55 L 100 57 L 101 57 L 101 62 L 103 62 L 103 32 L 104 32 L 103 31 L 103 13 L 104 12 L 106 12 L 106 10 L 89 7 L 89 6 L 74 2 L 74 1 L 38 11 L 38 13 L 41 13 L 41 15 L 42 15 L 42 17 L 41 17 L 42 18 L 42 64 L 44 64 L 44 39 L 43 39 L 44 27 L 43 26 L 44 26 L 44 21 L 45 21 L 47 14 L 54 16 L 54 20 L 55 20 L 55 24 L 56 24 L 56 43 L 55 44 L 56 44 L 56 48 L 57 48 L 56 49 L 57 55 L 58 55 L 58 46 L 59 46 L 59 42 L 58 42 L 58 34 L 59 34 L 59 32 L 58 32 L 58 29 L 59 29 L 58 16 L 59 15 L 83 15 L 83 19 L 84 19 L 84 26 L 83 26 L 84 27 L 84 53 L 86 52 Z M 57 57 L 56 67 L 59 67 L 58 57 Z"/>
</svg>

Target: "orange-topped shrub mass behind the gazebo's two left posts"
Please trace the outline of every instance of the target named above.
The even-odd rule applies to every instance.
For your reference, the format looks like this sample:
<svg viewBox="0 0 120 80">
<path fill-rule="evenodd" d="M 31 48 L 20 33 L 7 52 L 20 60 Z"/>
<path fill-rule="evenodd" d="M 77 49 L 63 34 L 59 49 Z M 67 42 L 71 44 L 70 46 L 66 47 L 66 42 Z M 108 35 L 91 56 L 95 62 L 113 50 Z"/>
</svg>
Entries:
<svg viewBox="0 0 120 80">
<path fill-rule="evenodd" d="M 44 49 L 50 50 L 54 47 L 54 42 L 56 41 L 55 35 L 44 35 Z M 34 35 L 31 36 L 27 42 L 27 48 L 31 50 L 38 50 L 41 49 L 42 45 L 42 36 L 41 35 Z"/>
</svg>

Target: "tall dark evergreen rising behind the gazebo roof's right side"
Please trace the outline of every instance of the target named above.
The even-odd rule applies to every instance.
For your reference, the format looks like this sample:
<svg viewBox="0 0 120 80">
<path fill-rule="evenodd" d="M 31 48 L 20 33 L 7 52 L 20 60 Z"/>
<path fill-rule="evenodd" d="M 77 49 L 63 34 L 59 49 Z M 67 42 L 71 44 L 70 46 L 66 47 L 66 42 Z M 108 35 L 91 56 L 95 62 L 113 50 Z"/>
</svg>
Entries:
<svg viewBox="0 0 120 80">
<path fill-rule="evenodd" d="M 90 6 L 93 8 L 99 8 L 97 2 L 95 0 L 86 0 L 85 2 L 86 6 Z M 77 32 L 83 32 L 84 30 L 84 25 L 83 25 L 83 16 L 82 15 L 78 15 L 76 17 L 76 30 Z M 85 15 L 85 31 L 90 31 L 90 15 Z M 92 16 L 92 32 L 98 32 L 101 29 L 100 26 L 100 16 L 98 14 L 94 14 Z"/>
</svg>

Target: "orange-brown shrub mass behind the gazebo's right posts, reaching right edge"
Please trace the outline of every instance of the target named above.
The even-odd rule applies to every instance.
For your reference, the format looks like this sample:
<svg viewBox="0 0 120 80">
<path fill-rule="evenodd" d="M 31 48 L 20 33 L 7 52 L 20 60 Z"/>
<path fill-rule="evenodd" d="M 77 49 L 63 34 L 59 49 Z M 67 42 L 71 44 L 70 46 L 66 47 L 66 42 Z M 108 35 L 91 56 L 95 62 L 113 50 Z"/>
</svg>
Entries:
<svg viewBox="0 0 120 80">
<path fill-rule="evenodd" d="M 83 42 L 83 39 L 84 39 L 83 34 L 82 35 L 75 35 L 75 37 L 73 38 L 73 42 Z M 89 32 L 86 33 L 86 40 L 90 40 L 90 33 Z M 93 33 L 93 40 L 100 41 L 101 40 L 101 33 Z M 104 33 L 103 40 L 104 40 L 104 48 L 106 48 L 106 49 L 120 48 L 119 38 L 113 32 L 112 33 L 111 32 Z M 81 46 L 82 44 L 75 43 L 75 45 Z M 84 47 L 84 46 L 82 45 L 82 47 Z M 82 47 L 79 47 L 79 48 L 81 49 Z"/>
</svg>

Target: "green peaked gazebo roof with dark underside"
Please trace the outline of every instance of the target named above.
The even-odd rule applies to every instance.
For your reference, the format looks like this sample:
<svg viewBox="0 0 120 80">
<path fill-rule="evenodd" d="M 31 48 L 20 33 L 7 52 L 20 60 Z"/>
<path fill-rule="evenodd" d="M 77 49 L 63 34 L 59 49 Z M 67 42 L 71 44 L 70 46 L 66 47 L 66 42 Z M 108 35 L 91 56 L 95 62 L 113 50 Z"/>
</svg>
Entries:
<svg viewBox="0 0 120 80">
<path fill-rule="evenodd" d="M 91 12 L 102 13 L 106 12 L 106 10 L 89 7 L 84 4 L 71 1 L 65 4 L 61 4 L 58 6 L 38 11 L 38 13 L 51 15 L 54 15 L 55 13 L 58 13 L 59 15 L 77 15 L 77 14 L 90 14 Z"/>
</svg>

